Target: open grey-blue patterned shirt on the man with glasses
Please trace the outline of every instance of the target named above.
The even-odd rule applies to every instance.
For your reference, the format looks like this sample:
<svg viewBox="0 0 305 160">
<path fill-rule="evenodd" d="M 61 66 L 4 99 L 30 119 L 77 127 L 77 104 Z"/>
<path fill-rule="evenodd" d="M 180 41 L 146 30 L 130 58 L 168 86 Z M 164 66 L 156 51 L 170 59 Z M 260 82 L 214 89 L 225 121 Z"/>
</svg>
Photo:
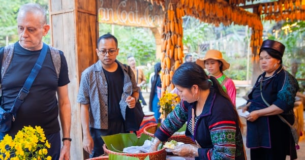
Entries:
<svg viewBox="0 0 305 160">
<path fill-rule="evenodd" d="M 120 112 L 125 119 L 127 103 L 126 98 L 133 92 L 139 92 L 135 81 L 135 75 L 128 68 L 116 60 L 119 68 L 124 72 L 124 86 L 121 100 L 119 102 Z M 108 129 L 108 87 L 107 80 L 99 60 L 94 65 L 88 67 L 81 74 L 81 81 L 77 102 L 80 104 L 90 104 L 89 106 L 89 127 L 95 129 Z"/>
</svg>

